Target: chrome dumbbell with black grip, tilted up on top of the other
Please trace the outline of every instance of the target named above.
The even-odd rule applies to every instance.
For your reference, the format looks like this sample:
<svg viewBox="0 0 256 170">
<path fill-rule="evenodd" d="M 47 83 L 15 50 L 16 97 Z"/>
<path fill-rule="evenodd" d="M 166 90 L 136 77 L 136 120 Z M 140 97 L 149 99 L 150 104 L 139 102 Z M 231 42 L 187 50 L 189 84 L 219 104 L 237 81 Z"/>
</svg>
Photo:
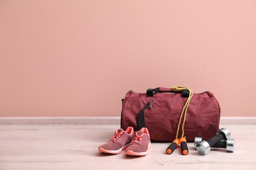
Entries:
<svg viewBox="0 0 256 170">
<path fill-rule="evenodd" d="M 215 144 L 219 143 L 222 140 L 230 139 L 230 131 L 226 128 L 222 128 L 217 132 L 217 135 L 208 141 L 202 141 L 198 144 L 196 144 L 196 150 L 198 150 L 198 153 L 201 155 L 206 155 L 208 152 L 210 152 L 211 147 Z"/>
</svg>

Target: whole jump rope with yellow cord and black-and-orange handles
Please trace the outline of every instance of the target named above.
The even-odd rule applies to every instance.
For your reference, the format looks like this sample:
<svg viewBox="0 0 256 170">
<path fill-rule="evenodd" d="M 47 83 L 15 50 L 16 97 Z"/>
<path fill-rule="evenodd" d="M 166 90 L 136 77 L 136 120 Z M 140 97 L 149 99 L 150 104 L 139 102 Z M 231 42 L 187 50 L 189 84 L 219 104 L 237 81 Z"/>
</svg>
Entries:
<svg viewBox="0 0 256 170">
<path fill-rule="evenodd" d="M 173 153 L 173 151 L 176 148 L 178 148 L 179 145 L 181 144 L 182 154 L 187 155 L 188 154 L 188 144 L 186 143 L 186 137 L 184 137 L 184 125 L 185 125 L 185 122 L 186 122 L 186 111 L 188 110 L 188 105 L 189 105 L 190 100 L 192 98 L 193 92 L 192 92 L 192 90 L 190 90 L 190 88 L 186 88 L 184 86 L 173 86 L 171 89 L 175 92 L 182 92 L 182 90 L 188 90 L 189 95 L 188 95 L 188 99 L 186 100 L 186 103 L 185 103 L 185 105 L 184 105 L 184 107 L 181 111 L 175 140 L 168 146 L 168 148 L 166 149 L 166 153 L 167 154 Z M 183 116 L 183 114 L 184 114 L 184 116 Z M 182 122 L 182 126 L 181 126 L 182 117 L 183 117 L 183 122 Z M 180 126 L 181 126 L 181 129 L 182 129 L 182 134 L 181 134 L 181 138 L 178 138 L 179 131 L 180 131 Z"/>
</svg>

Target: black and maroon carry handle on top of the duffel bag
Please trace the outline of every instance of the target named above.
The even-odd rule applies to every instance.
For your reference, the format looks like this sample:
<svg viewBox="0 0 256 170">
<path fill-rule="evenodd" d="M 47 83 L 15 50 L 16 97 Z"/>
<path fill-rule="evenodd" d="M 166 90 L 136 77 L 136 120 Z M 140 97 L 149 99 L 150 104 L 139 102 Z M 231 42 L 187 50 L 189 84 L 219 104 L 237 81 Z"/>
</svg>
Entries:
<svg viewBox="0 0 256 170">
<path fill-rule="evenodd" d="M 146 90 L 146 97 L 153 97 L 155 93 L 182 93 L 183 97 L 189 96 L 188 90 L 173 90 L 173 88 L 149 88 Z"/>
</svg>

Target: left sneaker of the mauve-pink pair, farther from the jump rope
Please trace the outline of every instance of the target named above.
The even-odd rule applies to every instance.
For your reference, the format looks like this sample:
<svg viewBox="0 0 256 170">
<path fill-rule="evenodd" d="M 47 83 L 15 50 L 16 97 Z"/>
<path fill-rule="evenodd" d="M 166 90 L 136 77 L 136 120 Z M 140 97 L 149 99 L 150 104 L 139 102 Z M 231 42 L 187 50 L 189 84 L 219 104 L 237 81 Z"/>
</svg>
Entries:
<svg viewBox="0 0 256 170">
<path fill-rule="evenodd" d="M 102 144 L 98 147 L 98 151 L 108 154 L 119 154 L 129 146 L 133 136 L 133 127 L 127 127 L 125 131 L 123 131 L 123 129 L 118 129 L 115 131 L 114 137 L 112 137 L 108 143 Z"/>
</svg>

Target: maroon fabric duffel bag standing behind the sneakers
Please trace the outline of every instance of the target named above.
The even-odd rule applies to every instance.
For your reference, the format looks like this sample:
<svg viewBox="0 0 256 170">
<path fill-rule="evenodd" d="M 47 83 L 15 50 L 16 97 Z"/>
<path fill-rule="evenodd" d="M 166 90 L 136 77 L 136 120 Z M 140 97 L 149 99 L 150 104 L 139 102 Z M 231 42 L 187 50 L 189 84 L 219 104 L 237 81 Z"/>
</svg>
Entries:
<svg viewBox="0 0 256 170">
<path fill-rule="evenodd" d="M 171 88 L 148 89 L 146 93 L 130 90 L 122 99 L 121 128 L 132 126 L 139 130 L 147 127 L 151 141 L 173 141 L 189 93 L 188 90 L 177 92 Z M 186 140 L 194 141 L 196 136 L 207 140 L 215 136 L 220 115 L 221 109 L 213 93 L 194 93 L 184 124 Z"/>
</svg>

